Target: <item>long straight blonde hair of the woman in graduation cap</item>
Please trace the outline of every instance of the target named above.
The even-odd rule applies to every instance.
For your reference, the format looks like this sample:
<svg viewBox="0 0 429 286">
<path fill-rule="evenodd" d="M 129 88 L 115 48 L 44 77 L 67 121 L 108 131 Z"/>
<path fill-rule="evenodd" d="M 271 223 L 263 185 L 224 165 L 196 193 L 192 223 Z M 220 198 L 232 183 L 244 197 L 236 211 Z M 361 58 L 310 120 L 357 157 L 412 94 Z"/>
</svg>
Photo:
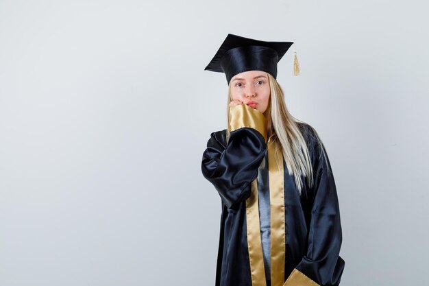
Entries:
<svg viewBox="0 0 429 286">
<path fill-rule="evenodd" d="M 302 187 L 304 182 L 302 182 L 302 176 L 307 178 L 307 183 L 309 187 L 313 185 L 313 172 L 312 165 L 310 160 L 310 154 L 308 152 L 308 146 L 304 140 L 302 131 L 299 129 L 298 123 L 304 123 L 299 121 L 289 113 L 289 110 L 286 108 L 284 102 L 284 92 L 280 84 L 273 78 L 272 75 L 267 73 L 269 79 L 269 86 L 271 90 L 271 95 L 269 97 L 268 108 L 265 112 L 267 117 L 267 136 L 273 136 L 273 141 L 280 143 L 282 146 L 282 157 L 286 162 L 286 167 L 289 170 L 289 175 L 293 175 L 295 178 L 295 184 L 299 191 L 299 195 L 302 193 Z M 232 102 L 231 95 L 231 82 L 228 85 L 228 112 L 227 112 L 227 122 L 228 128 L 226 128 L 226 141 L 230 136 L 230 102 Z M 311 126 L 309 126 L 312 128 Z M 314 128 L 312 132 L 315 133 L 317 142 L 323 144 Z M 321 148 L 323 152 L 323 148 Z M 279 152 L 278 149 L 275 152 Z M 323 155 L 326 156 L 323 152 Z M 263 161 L 262 161 L 263 162 Z M 283 163 L 283 162 L 281 162 Z M 280 164 L 280 162 L 278 162 Z"/>
</svg>

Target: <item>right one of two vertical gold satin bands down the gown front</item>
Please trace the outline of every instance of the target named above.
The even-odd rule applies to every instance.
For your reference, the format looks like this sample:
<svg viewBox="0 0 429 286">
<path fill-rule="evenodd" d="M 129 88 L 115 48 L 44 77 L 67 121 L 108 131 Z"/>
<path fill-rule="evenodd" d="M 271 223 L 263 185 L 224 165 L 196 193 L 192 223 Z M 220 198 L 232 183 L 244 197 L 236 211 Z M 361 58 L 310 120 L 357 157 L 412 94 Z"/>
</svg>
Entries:
<svg viewBox="0 0 429 286">
<path fill-rule="evenodd" d="M 271 210 L 271 286 L 282 286 L 285 256 L 283 156 L 280 145 L 271 139 L 272 137 L 267 145 Z"/>
</svg>

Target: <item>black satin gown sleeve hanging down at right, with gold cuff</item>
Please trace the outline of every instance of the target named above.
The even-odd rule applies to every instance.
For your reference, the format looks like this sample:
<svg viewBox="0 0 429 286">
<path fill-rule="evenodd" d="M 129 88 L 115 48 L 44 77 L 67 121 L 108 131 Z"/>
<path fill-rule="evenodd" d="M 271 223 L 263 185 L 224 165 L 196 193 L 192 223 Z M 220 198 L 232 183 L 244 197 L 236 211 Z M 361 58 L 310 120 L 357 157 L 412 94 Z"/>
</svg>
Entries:
<svg viewBox="0 0 429 286">
<path fill-rule="evenodd" d="M 313 138 L 317 136 L 312 134 Z M 284 286 L 337 286 L 345 265 L 339 256 L 342 242 L 339 200 L 325 147 L 315 139 L 310 149 L 315 183 L 308 198 L 312 207 L 307 250 Z"/>
</svg>

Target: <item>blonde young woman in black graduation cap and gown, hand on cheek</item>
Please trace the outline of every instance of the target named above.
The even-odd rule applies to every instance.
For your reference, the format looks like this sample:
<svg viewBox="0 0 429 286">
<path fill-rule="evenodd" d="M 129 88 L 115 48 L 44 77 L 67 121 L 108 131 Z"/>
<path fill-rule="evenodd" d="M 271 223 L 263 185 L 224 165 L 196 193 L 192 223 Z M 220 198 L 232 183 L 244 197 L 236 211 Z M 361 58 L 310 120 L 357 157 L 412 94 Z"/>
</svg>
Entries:
<svg viewBox="0 0 429 286">
<path fill-rule="evenodd" d="M 287 110 L 275 80 L 291 42 L 232 34 L 206 70 L 228 82 L 228 128 L 201 171 L 222 203 L 217 286 L 339 285 L 345 262 L 334 176 L 314 128 Z"/>
</svg>

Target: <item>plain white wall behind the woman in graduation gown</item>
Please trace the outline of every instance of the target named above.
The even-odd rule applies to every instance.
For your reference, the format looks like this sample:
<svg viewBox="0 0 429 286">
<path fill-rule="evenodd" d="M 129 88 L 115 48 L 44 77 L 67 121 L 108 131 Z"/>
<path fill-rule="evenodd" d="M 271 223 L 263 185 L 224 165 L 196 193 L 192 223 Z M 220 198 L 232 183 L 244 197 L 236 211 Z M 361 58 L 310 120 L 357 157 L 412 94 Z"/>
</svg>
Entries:
<svg viewBox="0 0 429 286">
<path fill-rule="evenodd" d="M 423 285 L 424 1 L 0 0 L 0 285 L 215 285 L 228 33 L 293 41 L 278 81 L 326 145 L 344 286 Z"/>
</svg>

